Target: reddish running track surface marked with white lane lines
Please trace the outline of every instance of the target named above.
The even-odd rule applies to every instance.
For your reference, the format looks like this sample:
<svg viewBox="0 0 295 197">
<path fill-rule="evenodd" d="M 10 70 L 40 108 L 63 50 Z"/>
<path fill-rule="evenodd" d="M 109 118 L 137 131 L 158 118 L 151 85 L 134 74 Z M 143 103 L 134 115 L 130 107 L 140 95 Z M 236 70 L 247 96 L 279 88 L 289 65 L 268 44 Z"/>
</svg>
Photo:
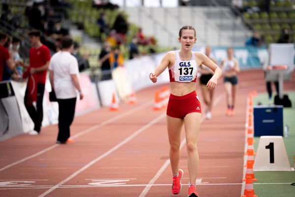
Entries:
<svg viewBox="0 0 295 197">
<path fill-rule="evenodd" d="M 219 80 L 213 118 L 203 120 L 198 140 L 200 197 L 240 196 L 246 99 L 254 89 L 266 92 L 263 76 L 261 70 L 239 74 L 235 117 L 224 115 Z M 284 89 L 294 90 L 294 85 L 293 77 Z M 138 92 L 138 103 L 121 103 L 118 112 L 103 108 L 76 117 L 71 127 L 74 144 L 55 144 L 57 125 L 43 128 L 37 136 L 22 134 L 0 142 L 0 196 L 174 197 L 165 110 L 152 110 L 154 92 L 161 87 Z M 197 93 L 201 96 L 199 85 Z M 187 196 L 186 162 L 183 146 L 184 186 L 177 197 Z"/>
</svg>

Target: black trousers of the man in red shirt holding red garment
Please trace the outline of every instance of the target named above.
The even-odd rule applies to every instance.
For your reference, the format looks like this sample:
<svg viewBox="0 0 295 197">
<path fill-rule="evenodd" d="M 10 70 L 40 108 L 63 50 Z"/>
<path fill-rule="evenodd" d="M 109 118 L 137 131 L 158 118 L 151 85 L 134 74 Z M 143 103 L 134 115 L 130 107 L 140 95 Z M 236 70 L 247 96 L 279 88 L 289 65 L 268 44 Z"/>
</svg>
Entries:
<svg viewBox="0 0 295 197">
<path fill-rule="evenodd" d="M 25 106 L 29 113 L 29 117 L 34 122 L 34 130 L 40 132 L 42 121 L 43 121 L 43 95 L 44 95 L 45 84 L 37 84 L 37 101 L 36 108 L 33 105 L 28 105 L 28 88 L 25 93 Z"/>
</svg>

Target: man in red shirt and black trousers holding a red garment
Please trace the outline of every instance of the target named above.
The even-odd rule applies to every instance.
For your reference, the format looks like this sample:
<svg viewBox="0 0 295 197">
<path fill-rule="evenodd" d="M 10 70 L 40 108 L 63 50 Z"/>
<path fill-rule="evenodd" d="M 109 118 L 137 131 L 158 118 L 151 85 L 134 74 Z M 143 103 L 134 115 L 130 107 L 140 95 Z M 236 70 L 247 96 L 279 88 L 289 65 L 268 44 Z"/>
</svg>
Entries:
<svg viewBox="0 0 295 197">
<path fill-rule="evenodd" d="M 40 133 L 43 120 L 43 95 L 46 82 L 47 68 L 50 62 L 50 50 L 40 41 L 40 32 L 33 30 L 28 33 L 29 41 L 32 47 L 29 50 L 29 65 L 20 62 L 20 65 L 27 67 L 23 78 L 28 78 L 27 89 L 25 93 L 25 106 L 34 122 L 34 130 L 29 134 L 36 135 Z"/>
</svg>

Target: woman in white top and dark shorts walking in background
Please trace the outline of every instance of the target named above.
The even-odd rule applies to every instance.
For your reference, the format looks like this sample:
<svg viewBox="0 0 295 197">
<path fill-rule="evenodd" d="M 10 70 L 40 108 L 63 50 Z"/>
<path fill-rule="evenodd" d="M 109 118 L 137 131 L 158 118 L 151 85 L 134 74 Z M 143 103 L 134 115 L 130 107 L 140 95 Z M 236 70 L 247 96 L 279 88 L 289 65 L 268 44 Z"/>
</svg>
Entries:
<svg viewBox="0 0 295 197">
<path fill-rule="evenodd" d="M 227 58 L 222 60 L 220 64 L 224 73 L 224 87 L 227 100 L 226 116 L 235 116 L 235 102 L 236 102 L 236 87 L 237 87 L 237 73 L 240 71 L 238 61 L 234 57 L 234 48 L 227 49 Z"/>
</svg>

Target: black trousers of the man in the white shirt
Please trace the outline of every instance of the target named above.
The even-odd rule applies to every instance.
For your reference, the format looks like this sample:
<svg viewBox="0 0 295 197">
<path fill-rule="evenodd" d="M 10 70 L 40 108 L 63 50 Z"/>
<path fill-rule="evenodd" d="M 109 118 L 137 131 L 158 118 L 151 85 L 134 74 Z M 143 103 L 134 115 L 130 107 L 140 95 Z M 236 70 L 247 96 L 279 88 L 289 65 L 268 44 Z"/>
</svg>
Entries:
<svg viewBox="0 0 295 197">
<path fill-rule="evenodd" d="M 65 142 L 70 137 L 70 126 L 74 120 L 77 98 L 58 99 L 59 134 L 58 141 Z"/>
</svg>

